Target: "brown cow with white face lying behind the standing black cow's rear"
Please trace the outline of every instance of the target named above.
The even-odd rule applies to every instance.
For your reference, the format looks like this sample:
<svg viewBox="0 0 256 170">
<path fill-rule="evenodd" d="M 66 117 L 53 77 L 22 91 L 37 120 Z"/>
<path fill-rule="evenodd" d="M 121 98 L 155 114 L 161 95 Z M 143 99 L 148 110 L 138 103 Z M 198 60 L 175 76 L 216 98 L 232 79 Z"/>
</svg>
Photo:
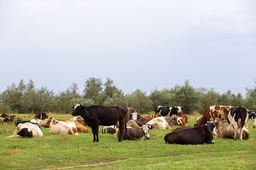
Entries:
<svg viewBox="0 0 256 170">
<path fill-rule="evenodd" d="M 130 120 L 126 123 L 127 129 L 123 133 L 124 140 L 146 140 L 149 139 L 150 125 L 141 124 L 137 120 Z M 121 133 L 118 131 L 117 136 L 120 137 Z M 143 138 L 143 136 L 145 138 Z"/>
</svg>

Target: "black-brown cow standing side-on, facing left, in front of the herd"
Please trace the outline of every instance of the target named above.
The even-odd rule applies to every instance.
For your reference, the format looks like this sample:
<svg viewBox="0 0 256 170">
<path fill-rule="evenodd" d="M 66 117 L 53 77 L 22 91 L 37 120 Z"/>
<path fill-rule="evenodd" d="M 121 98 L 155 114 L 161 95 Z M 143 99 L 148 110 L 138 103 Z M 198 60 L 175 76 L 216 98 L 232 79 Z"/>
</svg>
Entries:
<svg viewBox="0 0 256 170">
<path fill-rule="evenodd" d="M 99 125 L 111 126 L 119 122 L 119 131 L 124 133 L 127 117 L 127 107 L 124 105 L 93 105 L 82 106 L 82 104 L 76 104 L 73 106 L 72 116 L 81 116 L 86 124 L 92 128 L 93 142 L 99 142 Z M 118 141 L 121 142 L 123 135 L 120 135 Z"/>
</svg>

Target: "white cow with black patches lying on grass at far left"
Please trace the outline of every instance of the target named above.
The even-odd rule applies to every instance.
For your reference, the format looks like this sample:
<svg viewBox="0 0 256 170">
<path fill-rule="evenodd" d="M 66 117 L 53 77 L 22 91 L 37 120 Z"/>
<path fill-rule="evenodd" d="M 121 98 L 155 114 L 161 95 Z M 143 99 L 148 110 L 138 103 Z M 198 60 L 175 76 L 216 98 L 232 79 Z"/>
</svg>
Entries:
<svg viewBox="0 0 256 170">
<path fill-rule="evenodd" d="M 9 137 L 43 137 L 43 131 L 37 124 L 31 122 L 20 123 Z"/>
</svg>

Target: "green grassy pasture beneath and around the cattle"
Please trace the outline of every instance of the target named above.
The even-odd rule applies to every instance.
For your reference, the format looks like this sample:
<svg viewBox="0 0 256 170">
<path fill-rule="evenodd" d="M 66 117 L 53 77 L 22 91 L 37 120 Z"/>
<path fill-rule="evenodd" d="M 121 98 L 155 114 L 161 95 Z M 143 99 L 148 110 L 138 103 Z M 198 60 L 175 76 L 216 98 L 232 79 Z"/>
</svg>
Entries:
<svg viewBox="0 0 256 170">
<path fill-rule="evenodd" d="M 71 115 L 48 114 L 54 118 Z M 23 120 L 33 115 L 19 115 Z M 190 116 L 193 126 L 198 116 Z M 103 126 L 100 126 L 101 130 Z M 176 127 L 175 127 L 176 128 Z M 255 170 L 256 129 L 249 121 L 250 139 L 214 138 L 211 145 L 164 144 L 171 130 L 150 130 L 147 141 L 118 142 L 117 135 L 99 132 L 99 142 L 88 134 L 50 135 L 42 128 L 43 138 L 5 138 L 13 134 L 14 124 L 0 124 L 1 170 Z"/>
</svg>

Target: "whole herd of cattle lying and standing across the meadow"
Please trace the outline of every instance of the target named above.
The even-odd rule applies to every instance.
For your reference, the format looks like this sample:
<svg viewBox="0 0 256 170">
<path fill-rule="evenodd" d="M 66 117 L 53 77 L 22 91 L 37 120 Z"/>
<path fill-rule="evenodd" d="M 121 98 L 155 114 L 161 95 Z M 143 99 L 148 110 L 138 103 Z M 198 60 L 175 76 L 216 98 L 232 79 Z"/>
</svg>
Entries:
<svg viewBox="0 0 256 170">
<path fill-rule="evenodd" d="M 256 128 L 255 113 L 242 106 L 209 106 L 194 127 L 186 126 L 187 116 L 182 108 L 156 106 L 155 115 L 140 116 L 134 108 L 124 105 L 74 104 L 72 119 L 55 119 L 45 113 L 34 115 L 29 121 L 22 121 L 17 115 L 2 113 L 0 123 L 15 122 L 16 128 L 9 137 L 43 137 L 41 127 L 49 128 L 52 135 L 78 132 L 88 133 L 92 129 L 93 142 L 99 142 L 99 126 L 104 126 L 102 133 L 116 134 L 118 141 L 150 139 L 150 129 L 171 129 L 182 126 L 165 135 L 166 144 L 213 144 L 213 135 L 218 138 L 229 138 L 241 141 L 249 139 L 248 121 L 252 119 Z M 83 118 L 83 119 L 82 119 Z M 225 124 L 225 122 L 227 124 Z M 233 126 L 233 127 L 231 127 Z M 247 128 L 245 127 L 247 126 Z M 217 132 L 216 130 L 217 129 Z"/>
</svg>

